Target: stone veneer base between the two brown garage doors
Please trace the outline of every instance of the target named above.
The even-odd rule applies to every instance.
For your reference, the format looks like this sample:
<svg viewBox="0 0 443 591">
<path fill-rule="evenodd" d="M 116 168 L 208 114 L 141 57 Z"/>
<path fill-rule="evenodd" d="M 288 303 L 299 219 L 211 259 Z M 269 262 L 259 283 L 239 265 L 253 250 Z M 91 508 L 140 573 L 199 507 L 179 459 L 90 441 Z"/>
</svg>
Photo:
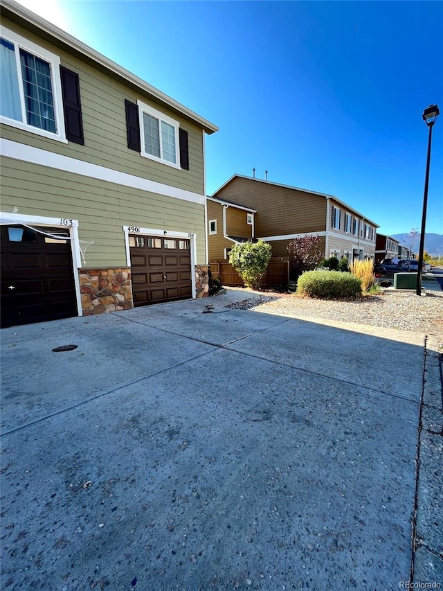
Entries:
<svg viewBox="0 0 443 591">
<path fill-rule="evenodd" d="M 79 276 L 84 316 L 134 307 L 130 269 L 80 269 Z"/>
</svg>

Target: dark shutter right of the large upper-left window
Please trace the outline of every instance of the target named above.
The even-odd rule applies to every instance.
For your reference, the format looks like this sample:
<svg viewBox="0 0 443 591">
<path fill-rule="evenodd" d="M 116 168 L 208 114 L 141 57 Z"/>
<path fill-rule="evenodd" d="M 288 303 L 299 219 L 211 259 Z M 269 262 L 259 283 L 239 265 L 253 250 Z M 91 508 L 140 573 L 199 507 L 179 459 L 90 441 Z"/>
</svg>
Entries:
<svg viewBox="0 0 443 591">
<path fill-rule="evenodd" d="M 66 139 L 84 145 L 78 73 L 60 66 Z"/>
</svg>

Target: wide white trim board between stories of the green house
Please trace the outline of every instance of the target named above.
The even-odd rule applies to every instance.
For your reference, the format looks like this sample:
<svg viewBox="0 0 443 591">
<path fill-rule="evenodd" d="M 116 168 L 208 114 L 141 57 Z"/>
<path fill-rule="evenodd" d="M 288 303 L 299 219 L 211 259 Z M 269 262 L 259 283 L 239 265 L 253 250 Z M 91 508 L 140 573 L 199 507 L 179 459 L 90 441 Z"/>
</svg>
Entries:
<svg viewBox="0 0 443 591">
<path fill-rule="evenodd" d="M 143 179 L 127 173 L 120 173 L 118 170 L 99 166 L 98 164 L 91 164 L 83 160 L 71 158 L 69 156 L 62 156 L 40 148 L 33 148 L 31 145 L 24 143 L 17 143 L 9 139 L 1 139 L 0 141 L 0 155 L 2 157 L 13 158 L 29 162 L 30 164 L 39 164 L 40 166 L 48 166 L 48 168 L 55 168 L 55 170 L 63 170 L 65 173 L 73 173 L 91 179 L 98 179 L 122 186 L 140 189 L 141 191 L 149 191 L 158 195 L 166 195 L 167 197 L 174 197 L 182 201 L 196 203 L 198 205 L 205 204 L 205 196 L 192 191 L 185 191 L 184 189 L 176 188 L 163 183 Z"/>
</svg>

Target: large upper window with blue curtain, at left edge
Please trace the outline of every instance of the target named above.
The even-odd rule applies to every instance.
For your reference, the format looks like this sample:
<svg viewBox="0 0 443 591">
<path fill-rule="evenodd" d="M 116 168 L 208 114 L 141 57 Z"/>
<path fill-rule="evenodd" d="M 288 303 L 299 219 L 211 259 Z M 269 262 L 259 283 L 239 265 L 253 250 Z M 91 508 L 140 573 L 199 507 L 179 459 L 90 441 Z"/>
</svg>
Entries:
<svg viewBox="0 0 443 591">
<path fill-rule="evenodd" d="M 3 28 L 0 64 L 1 121 L 66 142 L 60 58 Z"/>
</svg>

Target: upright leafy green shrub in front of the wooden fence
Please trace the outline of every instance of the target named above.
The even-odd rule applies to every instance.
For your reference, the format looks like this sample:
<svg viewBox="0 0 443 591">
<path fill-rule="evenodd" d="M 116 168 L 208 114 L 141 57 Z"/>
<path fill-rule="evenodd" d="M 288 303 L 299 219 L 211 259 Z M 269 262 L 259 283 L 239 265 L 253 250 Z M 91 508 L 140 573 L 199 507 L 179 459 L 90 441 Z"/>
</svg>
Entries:
<svg viewBox="0 0 443 591">
<path fill-rule="evenodd" d="M 229 262 L 248 288 L 260 287 L 271 260 L 271 245 L 263 240 L 242 242 L 230 250 Z"/>
</svg>

